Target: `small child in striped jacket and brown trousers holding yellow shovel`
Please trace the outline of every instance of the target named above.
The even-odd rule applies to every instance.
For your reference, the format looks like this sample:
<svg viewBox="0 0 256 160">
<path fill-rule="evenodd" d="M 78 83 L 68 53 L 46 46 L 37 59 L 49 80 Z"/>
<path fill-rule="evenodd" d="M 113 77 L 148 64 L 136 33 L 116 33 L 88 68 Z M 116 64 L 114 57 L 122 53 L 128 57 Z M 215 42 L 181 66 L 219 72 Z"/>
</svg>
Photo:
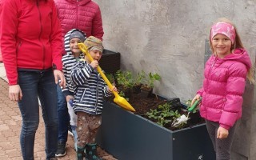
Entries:
<svg viewBox="0 0 256 160">
<path fill-rule="evenodd" d="M 74 66 L 70 74 L 70 81 L 75 86 L 73 109 L 78 116 L 77 157 L 78 160 L 82 160 L 83 157 L 89 160 L 101 159 L 98 158 L 95 138 L 102 123 L 103 96 L 110 96 L 111 92 L 117 89 L 106 86 L 96 70 L 98 61 L 102 58 L 102 41 L 90 36 L 84 43 L 94 60 L 90 62 L 86 56 L 84 61 L 80 60 Z"/>
</svg>

